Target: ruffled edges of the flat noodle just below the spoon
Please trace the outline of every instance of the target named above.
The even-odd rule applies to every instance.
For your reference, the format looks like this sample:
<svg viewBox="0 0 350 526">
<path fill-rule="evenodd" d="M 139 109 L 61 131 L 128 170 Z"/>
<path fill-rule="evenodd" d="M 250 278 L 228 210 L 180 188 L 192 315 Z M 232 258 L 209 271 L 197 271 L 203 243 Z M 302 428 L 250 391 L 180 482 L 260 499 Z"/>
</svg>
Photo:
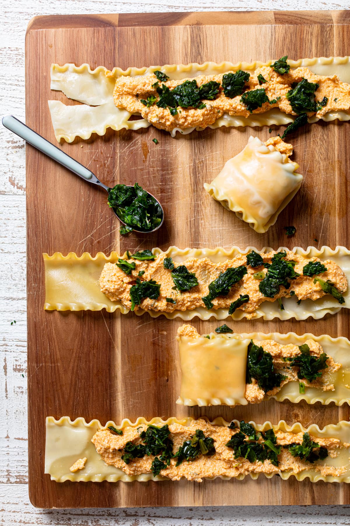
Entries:
<svg viewBox="0 0 350 526">
<path fill-rule="evenodd" d="M 284 250 L 286 247 L 279 247 L 277 251 Z M 161 250 L 160 248 L 153 248 L 152 251 L 155 255 L 159 254 L 166 254 L 167 257 L 173 257 L 176 262 L 184 261 L 185 259 L 189 257 L 196 257 L 196 258 L 204 258 L 208 257 L 212 261 L 225 261 L 226 259 L 232 259 L 237 254 L 247 254 L 247 252 L 250 252 L 251 250 L 255 250 L 257 252 L 270 252 L 273 249 L 271 247 L 263 247 L 261 250 L 258 250 L 256 247 L 249 246 L 245 250 L 241 250 L 240 248 L 234 246 L 231 249 L 224 249 L 221 247 L 218 247 L 216 249 L 209 249 L 209 248 L 203 248 L 203 249 L 195 249 L 195 248 L 185 248 L 185 249 L 179 249 L 175 246 L 169 247 L 165 252 Z M 287 248 L 287 250 L 289 250 Z M 315 247 L 309 246 L 306 250 L 300 248 L 300 247 L 294 247 L 291 249 L 292 252 L 295 254 L 299 254 L 301 256 L 304 256 L 305 258 L 311 258 L 311 257 L 318 257 L 320 259 L 332 259 L 333 256 L 337 256 L 338 258 L 344 258 L 344 265 L 340 265 L 341 268 L 344 270 L 347 281 L 348 281 L 348 289 L 346 293 L 344 294 L 344 297 L 346 296 L 348 298 L 348 302 L 350 300 L 350 258 L 348 261 L 348 267 L 345 265 L 345 257 L 350 256 L 350 250 L 348 250 L 345 247 L 337 246 L 334 250 L 332 250 L 330 247 L 322 246 L 321 249 L 316 249 Z M 61 252 L 55 252 L 52 256 L 49 256 L 48 254 L 43 254 L 44 262 L 45 264 L 49 262 L 65 262 L 67 260 L 76 260 L 76 261 L 99 261 L 101 260 L 101 269 L 102 271 L 103 265 L 106 262 L 114 262 L 118 260 L 118 257 L 126 257 L 126 252 L 124 252 L 123 256 L 119 256 L 116 252 L 111 252 L 109 256 L 106 256 L 103 254 L 103 252 L 98 252 L 96 256 L 91 256 L 89 252 L 83 252 L 81 256 L 77 256 L 75 252 L 69 252 L 67 256 L 63 256 Z M 47 285 L 47 269 L 45 271 L 46 275 L 46 285 Z M 90 278 L 91 280 L 91 278 Z M 96 281 L 96 280 L 95 280 Z M 93 281 L 92 284 L 90 283 L 90 286 L 93 287 L 95 294 L 99 293 L 101 294 L 99 286 L 96 286 L 96 282 Z M 86 285 L 86 283 L 85 283 Z M 87 285 L 86 285 L 87 286 Z M 46 290 L 47 294 L 47 290 Z M 44 309 L 46 310 L 102 310 L 105 308 L 108 312 L 114 312 L 115 310 L 120 310 L 123 314 L 126 314 L 130 311 L 130 309 L 123 306 L 120 302 L 110 301 L 106 297 L 106 302 L 89 302 L 89 303 L 81 303 L 81 302 L 75 302 L 75 301 L 66 301 L 66 302 L 60 302 L 60 301 L 47 301 L 45 299 L 45 305 Z M 294 298 L 295 299 L 295 298 Z M 263 318 L 264 320 L 272 320 L 274 318 L 278 318 L 280 320 L 286 320 L 290 318 L 295 318 L 297 320 L 304 320 L 309 317 L 312 317 L 314 319 L 320 319 L 323 318 L 326 314 L 334 314 L 338 312 L 341 307 L 348 308 L 346 303 L 342 306 L 338 304 L 336 300 L 333 301 L 334 298 L 330 298 L 328 296 L 324 296 L 316 301 L 311 300 L 305 300 L 302 302 L 301 305 L 296 305 L 296 300 L 291 303 L 293 306 L 293 310 L 280 310 L 278 306 L 278 302 L 264 302 L 261 304 L 260 308 L 256 311 L 256 316 L 252 318 L 253 320 L 258 318 Z M 286 301 L 292 300 L 292 298 L 285 298 Z M 322 307 L 322 303 L 327 302 L 327 307 Z M 314 310 L 307 310 L 305 308 L 305 304 L 307 302 L 310 302 L 310 308 L 313 308 Z M 319 302 L 319 303 L 317 303 Z M 304 303 L 304 305 L 303 305 Z M 276 304 L 276 305 L 275 305 Z M 321 305 L 319 307 L 319 305 Z M 350 305 L 349 305 L 350 307 Z M 175 318 L 181 318 L 184 321 L 190 321 L 196 316 L 200 318 L 201 320 L 208 320 L 211 317 L 214 317 L 217 320 L 223 320 L 229 317 L 228 314 L 228 308 L 226 309 L 217 309 L 217 310 L 207 310 L 205 307 L 197 307 L 193 310 L 188 311 L 179 311 L 175 310 L 173 312 L 157 312 L 152 310 L 143 310 L 138 309 L 137 311 L 134 311 L 137 316 L 142 316 L 145 312 L 148 312 L 149 315 L 152 318 L 157 318 L 158 316 L 165 316 L 167 319 L 175 319 Z M 240 320 L 244 317 L 246 317 L 246 313 L 242 311 L 241 309 L 236 310 L 236 312 L 233 313 L 233 315 L 230 316 L 233 320 Z"/>
</svg>

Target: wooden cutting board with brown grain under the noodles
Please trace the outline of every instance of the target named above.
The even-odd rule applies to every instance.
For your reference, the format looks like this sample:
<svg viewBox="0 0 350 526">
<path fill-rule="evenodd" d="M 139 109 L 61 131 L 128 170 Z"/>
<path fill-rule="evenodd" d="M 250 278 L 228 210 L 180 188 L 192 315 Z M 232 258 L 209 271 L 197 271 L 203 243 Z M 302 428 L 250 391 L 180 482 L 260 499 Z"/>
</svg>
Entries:
<svg viewBox="0 0 350 526">
<path fill-rule="evenodd" d="M 56 142 L 48 99 L 75 104 L 50 91 L 50 64 L 67 62 L 149 66 L 206 60 L 269 60 L 344 56 L 350 49 L 350 12 L 166 13 L 140 15 L 43 16 L 34 18 L 26 37 L 26 122 Z M 277 133 L 278 130 L 276 130 Z M 279 130 L 280 131 L 280 130 Z M 131 420 L 137 416 L 223 416 L 304 426 L 348 420 L 348 406 L 307 406 L 265 402 L 237 409 L 184 408 L 175 401 L 180 372 L 175 341 L 181 320 L 119 312 L 44 311 L 42 252 L 96 254 L 111 250 L 178 247 L 231 247 L 316 244 L 350 247 L 347 217 L 349 123 L 321 123 L 291 136 L 294 160 L 304 175 L 301 190 L 266 234 L 249 226 L 209 197 L 211 181 L 251 134 L 269 137 L 264 128 L 222 128 L 186 136 L 153 127 L 108 130 L 104 137 L 62 141 L 60 147 L 103 181 L 140 183 L 160 197 L 165 224 L 153 235 L 120 237 L 119 224 L 105 193 L 84 183 L 30 146 L 27 147 L 27 291 L 29 496 L 41 508 L 198 506 L 232 504 L 349 504 L 350 486 L 288 481 L 278 476 L 257 481 L 148 483 L 51 482 L 44 474 L 45 417 L 87 421 Z M 275 135 L 275 130 L 272 132 Z M 156 137 L 158 144 L 152 139 Z M 283 227 L 296 235 L 285 237 Z M 314 241 L 318 239 L 318 242 Z M 348 311 L 314 321 L 230 323 L 235 332 L 294 331 L 350 337 Z M 218 323 L 198 319 L 201 333 Z"/>
</svg>

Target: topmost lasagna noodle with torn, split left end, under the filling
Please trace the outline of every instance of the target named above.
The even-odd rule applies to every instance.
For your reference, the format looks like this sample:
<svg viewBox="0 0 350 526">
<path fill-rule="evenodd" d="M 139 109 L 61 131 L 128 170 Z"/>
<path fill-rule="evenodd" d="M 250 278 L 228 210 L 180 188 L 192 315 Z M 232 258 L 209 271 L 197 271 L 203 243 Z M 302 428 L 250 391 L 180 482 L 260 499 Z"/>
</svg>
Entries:
<svg viewBox="0 0 350 526">
<path fill-rule="evenodd" d="M 78 100 L 83 103 L 84 110 L 77 113 L 75 106 L 65 106 L 64 108 L 57 104 L 52 104 L 49 100 L 49 107 L 54 126 L 56 139 L 61 138 L 71 143 L 76 136 L 87 139 L 92 133 L 98 133 L 105 128 L 113 128 L 119 130 L 146 128 L 151 124 L 146 119 L 129 120 L 131 113 L 125 110 L 115 108 L 113 113 L 108 118 L 107 106 L 105 110 L 98 112 L 96 106 L 113 104 L 113 88 L 114 79 L 121 75 L 137 76 L 147 75 L 153 73 L 157 69 L 161 69 L 163 73 L 177 80 L 182 78 L 196 77 L 198 75 L 215 75 L 225 73 L 228 71 L 237 71 L 244 69 L 248 72 L 261 67 L 272 64 L 273 60 L 267 63 L 240 62 L 232 64 L 230 62 L 222 62 L 215 64 L 214 62 L 206 62 L 204 64 L 179 64 L 179 65 L 165 65 L 165 66 L 150 66 L 143 68 L 129 67 L 126 70 L 115 67 L 112 70 L 114 78 L 105 78 L 105 73 L 108 72 L 103 66 L 99 66 L 91 70 L 88 64 L 75 66 L 74 64 L 65 64 L 59 66 L 58 64 L 51 65 L 51 89 L 60 90 L 67 97 Z M 303 58 L 300 60 L 288 60 L 292 68 L 307 67 L 317 75 L 337 75 L 342 82 L 350 83 L 350 57 L 320 57 L 320 58 Z M 90 115 L 91 114 L 91 115 Z M 101 120 L 99 120 L 101 118 Z M 287 115 L 278 108 L 273 108 L 264 114 L 251 115 L 249 117 L 231 116 L 228 114 L 222 115 L 219 119 L 211 124 L 210 128 L 219 128 L 221 126 L 271 126 L 289 124 L 293 122 L 294 116 Z M 350 114 L 346 112 L 328 112 L 322 120 L 349 120 Z M 309 122 L 317 122 L 316 117 L 309 118 Z M 88 124 L 90 126 L 88 126 Z M 181 134 L 191 133 L 195 128 L 188 128 L 182 130 L 174 128 L 171 135 L 175 137 L 176 131 Z M 198 127 L 197 130 L 201 128 Z"/>
</svg>

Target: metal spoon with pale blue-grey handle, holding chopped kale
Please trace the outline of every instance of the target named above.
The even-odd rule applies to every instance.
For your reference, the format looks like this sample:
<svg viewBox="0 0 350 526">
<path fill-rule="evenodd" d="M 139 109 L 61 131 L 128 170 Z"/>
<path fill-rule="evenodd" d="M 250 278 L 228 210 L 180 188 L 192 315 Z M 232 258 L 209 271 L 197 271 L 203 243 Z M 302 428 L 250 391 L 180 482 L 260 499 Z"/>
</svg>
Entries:
<svg viewBox="0 0 350 526">
<path fill-rule="evenodd" d="M 84 167 L 82 164 L 78 163 L 78 161 L 76 161 L 69 155 L 65 154 L 64 151 L 60 150 L 59 148 L 57 148 L 57 146 L 44 139 L 44 137 L 41 137 L 41 135 L 36 133 L 36 131 L 26 126 L 20 120 L 16 119 L 13 115 L 5 115 L 3 117 L 3 125 L 5 126 L 5 128 L 8 128 L 10 131 L 13 131 L 13 133 L 24 139 L 27 143 L 31 144 L 31 146 L 34 146 L 38 150 L 42 151 L 43 154 L 47 155 L 48 157 L 51 157 L 51 159 L 54 159 L 55 161 L 57 161 L 57 163 L 61 164 L 65 168 L 68 168 L 68 170 L 72 171 L 73 174 L 79 175 L 79 177 L 88 181 L 89 183 L 101 186 L 107 192 L 110 190 L 108 186 L 105 186 L 103 183 L 101 183 L 101 181 L 98 180 L 98 178 L 92 173 L 92 171 Z M 128 186 L 133 188 L 133 186 L 131 185 Z M 157 217 L 161 219 L 161 222 L 153 230 L 137 230 L 137 228 L 133 228 L 133 230 L 135 230 L 136 232 L 142 232 L 143 234 L 155 232 L 155 230 L 158 230 L 158 228 L 162 226 L 164 221 L 164 210 L 162 205 L 152 194 L 150 194 L 149 192 L 147 192 L 147 194 L 154 199 L 157 207 Z M 118 217 L 120 222 L 123 223 L 123 225 L 125 225 L 124 221 L 121 220 L 114 208 L 112 208 L 112 210 L 116 217 Z"/>
</svg>

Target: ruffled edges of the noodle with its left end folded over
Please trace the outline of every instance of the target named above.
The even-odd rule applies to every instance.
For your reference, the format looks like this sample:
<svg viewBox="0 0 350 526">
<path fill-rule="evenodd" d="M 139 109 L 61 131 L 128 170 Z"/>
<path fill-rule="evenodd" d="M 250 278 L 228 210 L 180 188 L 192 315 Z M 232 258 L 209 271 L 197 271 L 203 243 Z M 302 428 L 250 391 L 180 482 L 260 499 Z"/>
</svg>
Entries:
<svg viewBox="0 0 350 526">
<path fill-rule="evenodd" d="M 293 343 L 293 345 L 302 345 L 305 340 L 314 340 L 317 343 L 320 343 L 320 345 L 324 348 L 327 343 L 333 345 L 332 352 L 330 352 L 328 349 L 324 348 L 324 351 L 328 356 L 331 356 L 333 360 L 337 363 L 342 363 L 342 369 L 339 372 L 343 372 L 343 370 L 350 370 L 350 341 L 343 337 L 338 336 L 337 338 L 332 338 L 328 335 L 321 335 L 321 336 L 315 336 L 311 332 L 306 332 L 305 334 L 299 336 L 295 332 L 288 332 L 287 334 L 281 334 L 280 332 L 269 332 L 268 334 L 263 332 L 242 332 L 242 333 L 232 333 L 230 335 L 218 335 L 215 332 L 209 333 L 210 339 L 216 339 L 216 338 L 223 338 L 230 340 L 232 338 L 238 338 L 238 339 L 249 339 L 249 340 L 274 340 L 278 343 L 281 343 L 282 345 L 288 345 L 290 343 Z M 203 337 L 200 336 L 200 337 Z M 177 336 L 177 341 L 181 341 L 182 338 L 187 338 L 194 340 L 193 338 L 189 337 L 182 337 Z M 197 339 L 197 338 L 196 338 Z M 337 358 L 337 353 L 340 353 L 340 348 L 344 350 L 344 348 L 348 347 L 348 362 L 344 363 L 343 359 Z M 219 351 L 218 351 L 219 352 Z M 308 404 L 314 404 L 316 402 L 321 402 L 323 406 L 327 406 L 331 402 L 334 402 L 336 406 L 342 406 L 344 403 L 350 404 L 350 398 L 335 398 L 333 391 L 320 391 L 319 395 L 309 395 L 307 391 L 313 390 L 311 388 L 305 388 L 306 392 L 304 395 L 301 395 L 299 393 L 299 383 L 298 382 L 291 382 L 295 384 L 295 393 L 293 395 L 280 395 L 277 393 L 276 395 L 266 397 L 263 401 L 268 401 L 270 399 L 277 400 L 278 402 L 283 402 L 284 400 L 289 400 L 292 403 L 299 403 L 301 400 L 305 400 Z M 336 381 L 334 382 L 334 386 L 337 387 Z M 283 388 L 282 388 L 283 389 Z M 322 397 L 322 393 L 326 396 L 329 394 L 328 398 Z M 350 389 L 349 389 L 349 397 L 350 397 Z M 182 398 L 181 396 L 178 397 L 176 400 L 176 403 L 183 406 L 199 406 L 199 407 L 205 407 L 205 406 L 230 406 L 235 407 L 239 405 L 237 400 L 234 399 L 228 399 L 228 398 Z M 249 404 L 249 402 L 248 402 Z"/>
</svg>

